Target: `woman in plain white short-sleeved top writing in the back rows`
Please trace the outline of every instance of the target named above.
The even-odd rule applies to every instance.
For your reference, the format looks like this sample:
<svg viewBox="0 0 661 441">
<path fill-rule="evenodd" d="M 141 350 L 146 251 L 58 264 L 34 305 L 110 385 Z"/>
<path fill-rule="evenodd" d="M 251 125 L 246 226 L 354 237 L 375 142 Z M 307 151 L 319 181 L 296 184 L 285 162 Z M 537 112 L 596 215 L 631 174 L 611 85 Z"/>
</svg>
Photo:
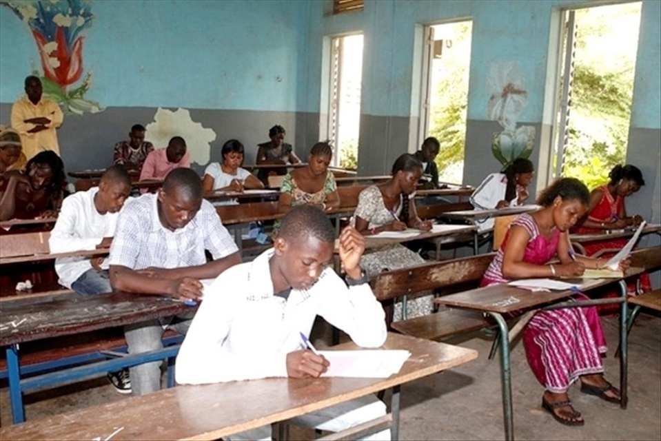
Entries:
<svg viewBox="0 0 661 441">
<path fill-rule="evenodd" d="M 264 184 L 253 174 L 241 168 L 243 163 L 243 144 L 236 139 L 230 139 L 223 144 L 221 150 L 222 163 L 210 163 L 204 171 L 202 187 L 205 192 L 225 190 L 243 192 L 244 189 L 261 189 Z M 236 203 L 236 201 L 227 201 Z"/>
</svg>

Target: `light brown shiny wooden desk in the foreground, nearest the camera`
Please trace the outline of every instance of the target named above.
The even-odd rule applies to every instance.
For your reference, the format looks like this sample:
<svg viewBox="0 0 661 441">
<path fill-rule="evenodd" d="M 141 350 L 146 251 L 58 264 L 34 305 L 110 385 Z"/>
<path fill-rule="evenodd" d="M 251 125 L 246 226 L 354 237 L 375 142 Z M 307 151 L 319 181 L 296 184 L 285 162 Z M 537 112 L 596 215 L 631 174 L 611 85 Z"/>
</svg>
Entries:
<svg viewBox="0 0 661 441">
<path fill-rule="evenodd" d="M 411 352 L 400 372 L 389 378 L 267 378 L 178 386 L 62 416 L 2 427 L 0 438 L 108 439 L 122 428 L 113 440 L 217 440 L 392 387 L 391 431 L 396 440 L 400 385 L 462 365 L 478 356 L 472 349 L 398 334 L 388 334 L 384 347 Z M 334 349 L 354 348 L 353 343 L 347 343 Z"/>
</svg>

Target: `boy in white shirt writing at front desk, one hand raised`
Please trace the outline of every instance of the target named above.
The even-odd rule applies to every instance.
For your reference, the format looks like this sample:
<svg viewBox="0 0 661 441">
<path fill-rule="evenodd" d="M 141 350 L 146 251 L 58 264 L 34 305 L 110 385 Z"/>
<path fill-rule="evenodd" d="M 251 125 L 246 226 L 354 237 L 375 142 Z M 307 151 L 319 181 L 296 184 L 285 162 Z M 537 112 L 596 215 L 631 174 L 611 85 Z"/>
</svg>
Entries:
<svg viewBox="0 0 661 441">
<path fill-rule="evenodd" d="M 176 359 L 179 384 L 268 377 L 316 378 L 329 366 L 305 348 L 314 318 L 322 316 L 361 347 L 386 339 L 385 316 L 358 265 L 365 239 L 353 227 L 340 234 L 342 280 L 332 269 L 334 227 L 321 209 L 292 208 L 274 248 L 223 272 L 206 290 Z M 295 418 L 299 424 L 340 431 L 385 415 L 375 396 Z M 271 439 L 270 425 L 232 440 Z M 389 431 L 364 439 L 389 440 Z"/>
</svg>

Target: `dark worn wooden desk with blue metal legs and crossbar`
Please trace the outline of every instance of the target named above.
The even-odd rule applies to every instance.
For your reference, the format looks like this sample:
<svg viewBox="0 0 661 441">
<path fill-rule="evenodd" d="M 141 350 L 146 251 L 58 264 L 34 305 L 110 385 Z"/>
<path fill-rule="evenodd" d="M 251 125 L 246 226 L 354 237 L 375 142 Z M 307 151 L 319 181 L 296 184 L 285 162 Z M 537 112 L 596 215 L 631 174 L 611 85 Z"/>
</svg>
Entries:
<svg viewBox="0 0 661 441">
<path fill-rule="evenodd" d="M 179 347 L 125 356 L 113 360 L 55 371 L 21 380 L 19 343 L 68 336 L 195 311 L 181 302 L 159 296 L 128 293 L 69 296 L 41 301 L 3 302 L 0 314 L 0 345 L 6 347 L 7 370 L 14 423 L 25 420 L 23 392 L 79 380 L 99 372 L 120 370 L 143 362 L 176 356 Z M 50 437 L 47 437 L 50 438 Z"/>
</svg>

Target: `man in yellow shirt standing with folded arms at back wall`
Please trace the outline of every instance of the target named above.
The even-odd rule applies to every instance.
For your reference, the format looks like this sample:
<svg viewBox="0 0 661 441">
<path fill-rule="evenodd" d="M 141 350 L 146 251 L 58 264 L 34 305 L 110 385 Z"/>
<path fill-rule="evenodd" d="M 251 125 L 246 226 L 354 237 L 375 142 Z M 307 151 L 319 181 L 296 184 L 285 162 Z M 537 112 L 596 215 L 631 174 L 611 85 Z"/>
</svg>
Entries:
<svg viewBox="0 0 661 441">
<path fill-rule="evenodd" d="M 28 161 L 43 150 L 60 154 L 55 130 L 62 125 L 64 115 L 59 105 L 41 98 L 41 80 L 37 76 L 26 78 L 26 94 L 12 106 L 12 127 L 18 130 L 23 153 Z"/>
</svg>

